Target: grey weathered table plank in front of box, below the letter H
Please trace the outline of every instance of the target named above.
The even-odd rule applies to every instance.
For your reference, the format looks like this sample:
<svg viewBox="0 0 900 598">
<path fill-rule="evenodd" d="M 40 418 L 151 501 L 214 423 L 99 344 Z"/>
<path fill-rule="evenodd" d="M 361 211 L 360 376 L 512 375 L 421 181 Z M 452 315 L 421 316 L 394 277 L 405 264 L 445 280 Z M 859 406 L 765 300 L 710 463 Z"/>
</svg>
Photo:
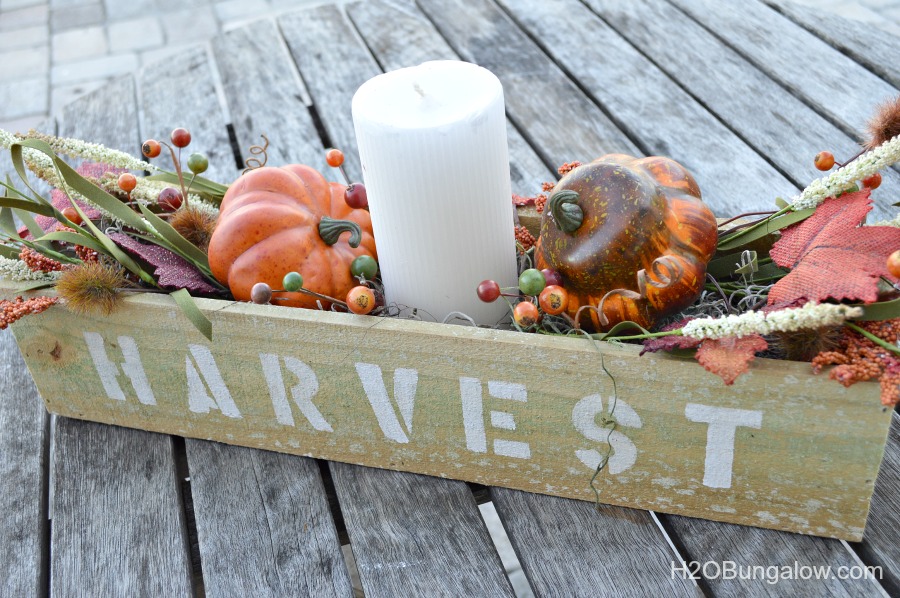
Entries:
<svg viewBox="0 0 900 598">
<path fill-rule="evenodd" d="M 168 436 L 56 418 L 51 593 L 191 596 Z"/>
</svg>

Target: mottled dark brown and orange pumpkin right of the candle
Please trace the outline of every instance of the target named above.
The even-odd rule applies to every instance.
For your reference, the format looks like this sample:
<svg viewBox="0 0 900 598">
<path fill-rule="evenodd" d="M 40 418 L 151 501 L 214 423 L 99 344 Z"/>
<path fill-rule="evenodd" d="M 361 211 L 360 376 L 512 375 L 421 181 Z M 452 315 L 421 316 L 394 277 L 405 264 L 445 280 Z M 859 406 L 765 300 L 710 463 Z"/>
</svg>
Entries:
<svg viewBox="0 0 900 598">
<path fill-rule="evenodd" d="M 650 328 L 699 296 L 717 238 L 716 219 L 683 166 L 610 154 L 554 187 L 536 265 L 560 273 L 572 317 L 584 305 L 600 308 L 602 319 L 596 310 L 580 313 L 583 328 L 627 320 Z"/>
</svg>

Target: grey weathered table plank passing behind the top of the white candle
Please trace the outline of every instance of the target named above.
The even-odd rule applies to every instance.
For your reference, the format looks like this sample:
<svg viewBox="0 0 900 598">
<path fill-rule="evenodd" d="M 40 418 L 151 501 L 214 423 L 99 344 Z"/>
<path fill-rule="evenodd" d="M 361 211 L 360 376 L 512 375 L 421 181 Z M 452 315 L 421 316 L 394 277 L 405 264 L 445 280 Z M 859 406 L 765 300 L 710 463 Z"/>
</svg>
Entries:
<svg viewBox="0 0 900 598">
<path fill-rule="evenodd" d="M 349 5 L 347 12 L 386 71 L 415 66 L 428 60 L 459 59 L 413 2 L 398 5 L 371 0 Z M 541 183 L 556 180 L 555 170 L 541 161 L 509 120 L 506 132 L 513 193 L 534 195 L 540 191 Z"/>
</svg>

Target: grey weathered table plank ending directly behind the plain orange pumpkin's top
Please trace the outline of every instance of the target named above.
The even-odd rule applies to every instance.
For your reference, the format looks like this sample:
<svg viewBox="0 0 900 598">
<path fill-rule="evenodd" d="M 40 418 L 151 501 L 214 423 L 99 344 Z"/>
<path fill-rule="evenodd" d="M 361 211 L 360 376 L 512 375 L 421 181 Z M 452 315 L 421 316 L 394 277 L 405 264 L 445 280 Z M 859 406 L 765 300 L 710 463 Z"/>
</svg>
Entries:
<svg viewBox="0 0 900 598">
<path fill-rule="evenodd" d="M 304 102 L 307 91 L 274 21 L 234 29 L 212 41 L 225 101 L 244 159 L 269 139 L 268 166 L 307 164 L 326 176 L 325 150 Z M 334 177 L 329 177 L 333 180 Z"/>
</svg>

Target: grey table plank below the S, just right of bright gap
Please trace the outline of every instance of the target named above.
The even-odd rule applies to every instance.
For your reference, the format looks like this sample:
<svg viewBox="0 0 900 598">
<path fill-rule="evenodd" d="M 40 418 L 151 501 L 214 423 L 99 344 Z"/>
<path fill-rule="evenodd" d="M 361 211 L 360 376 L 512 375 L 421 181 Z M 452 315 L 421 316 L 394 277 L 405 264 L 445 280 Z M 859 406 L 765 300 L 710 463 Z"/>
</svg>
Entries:
<svg viewBox="0 0 900 598">
<path fill-rule="evenodd" d="M 701 595 L 672 578 L 677 556 L 650 513 L 505 488 L 491 498 L 538 596 L 555 595 L 560 580 L 573 596 Z"/>
</svg>

